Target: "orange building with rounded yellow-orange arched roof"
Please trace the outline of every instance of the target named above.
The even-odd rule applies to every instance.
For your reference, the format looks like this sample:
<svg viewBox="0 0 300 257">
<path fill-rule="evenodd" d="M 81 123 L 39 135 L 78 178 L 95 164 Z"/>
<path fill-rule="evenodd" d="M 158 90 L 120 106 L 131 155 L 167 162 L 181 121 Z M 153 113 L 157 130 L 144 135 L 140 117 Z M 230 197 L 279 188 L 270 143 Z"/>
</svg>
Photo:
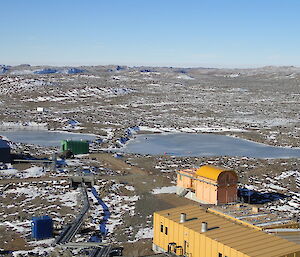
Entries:
<svg viewBox="0 0 300 257">
<path fill-rule="evenodd" d="M 177 171 L 177 194 L 205 204 L 233 203 L 237 182 L 235 171 L 205 165 Z"/>
</svg>

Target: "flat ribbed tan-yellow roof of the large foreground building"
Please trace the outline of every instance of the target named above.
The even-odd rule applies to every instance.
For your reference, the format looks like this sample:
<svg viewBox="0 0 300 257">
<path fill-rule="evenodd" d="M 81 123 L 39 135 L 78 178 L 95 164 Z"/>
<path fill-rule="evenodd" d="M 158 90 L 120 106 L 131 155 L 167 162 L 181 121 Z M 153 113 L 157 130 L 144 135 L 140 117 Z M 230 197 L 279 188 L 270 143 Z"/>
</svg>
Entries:
<svg viewBox="0 0 300 257">
<path fill-rule="evenodd" d="M 180 223 L 180 213 L 186 213 L 187 220 Z M 300 245 L 278 236 L 237 224 L 219 215 L 207 212 L 197 205 L 172 208 L 155 214 L 172 220 L 197 233 L 201 232 L 201 222 L 208 223 L 205 236 L 229 246 L 248 256 L 280 257 L 300 251 Z"/>
</svg>

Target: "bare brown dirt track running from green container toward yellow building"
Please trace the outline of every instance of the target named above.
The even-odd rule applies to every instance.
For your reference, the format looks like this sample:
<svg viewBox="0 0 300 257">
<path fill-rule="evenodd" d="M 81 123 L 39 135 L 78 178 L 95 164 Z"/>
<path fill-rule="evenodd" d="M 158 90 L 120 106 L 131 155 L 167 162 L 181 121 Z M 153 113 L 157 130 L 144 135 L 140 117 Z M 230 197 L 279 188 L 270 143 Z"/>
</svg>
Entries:
<svg viewBox="0 0 300 257">
<path fill-rule="evenodd" d="M 112 170 L 126 172 L 127 175 L 114 176 L 111 178 L 134 186 L 136 193 L 140 196 L 140 200 L 136 202 L 136 215 L 134 217 L 125 217 L 123 220 L 124 227 L 135 227 L 145 223 L 147 217 L 149 217 L 149 215 L 152 216 L 155 211 L 186 204 L 195 204 L 175 194 L 152 194 L 151 191 L 154 188 L 171 185 L 170 180 L 165 176 L 161 176 L 161 174 L 151 174 L 152 172 L 129 165 L 122 159 L 114 158 L 111 154 L 91 154 L 90 158 L 96 158 Z M 121 230 L 118 232 L 122 233 Z M 120 241 L 124 241 L 122 235 L 119 236 L 119 239 Z M 135 257 L 153 254 L 151 250 L 152 239 L 142 239 L 135 243 L 122 244 L 122 246 L 124 247 L 124 256 Z"/>
</svg>

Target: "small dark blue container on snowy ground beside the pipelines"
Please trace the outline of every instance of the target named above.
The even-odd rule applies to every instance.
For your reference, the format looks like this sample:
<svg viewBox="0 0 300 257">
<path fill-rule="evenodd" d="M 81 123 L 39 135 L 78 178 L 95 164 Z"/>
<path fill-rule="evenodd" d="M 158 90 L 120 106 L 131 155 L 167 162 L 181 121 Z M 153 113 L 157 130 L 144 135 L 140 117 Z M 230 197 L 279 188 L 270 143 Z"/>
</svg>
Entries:
<svg viewBox="0 0 300 257">
<path fill-rule="evenodd" d="M 53 237 L 53 221 L 49 216 L 32 217 L 31 235 L 35 239 Z"/>
</svg>

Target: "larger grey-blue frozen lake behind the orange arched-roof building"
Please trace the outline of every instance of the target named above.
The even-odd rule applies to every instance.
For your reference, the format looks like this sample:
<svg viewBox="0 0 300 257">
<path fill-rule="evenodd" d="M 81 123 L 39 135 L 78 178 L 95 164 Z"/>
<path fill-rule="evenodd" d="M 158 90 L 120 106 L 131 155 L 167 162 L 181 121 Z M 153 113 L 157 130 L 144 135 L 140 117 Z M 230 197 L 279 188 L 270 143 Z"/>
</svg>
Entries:
<svg viewBox="0 0 300 257">
<path fill-rule="evenodd" d="M 215 134 L 143 134 L 130 140 L 126 153 L 175 156 L 243 156 L 252 158 L 297 158 L 300 148 L 274 147 Z"/>
</svg>

